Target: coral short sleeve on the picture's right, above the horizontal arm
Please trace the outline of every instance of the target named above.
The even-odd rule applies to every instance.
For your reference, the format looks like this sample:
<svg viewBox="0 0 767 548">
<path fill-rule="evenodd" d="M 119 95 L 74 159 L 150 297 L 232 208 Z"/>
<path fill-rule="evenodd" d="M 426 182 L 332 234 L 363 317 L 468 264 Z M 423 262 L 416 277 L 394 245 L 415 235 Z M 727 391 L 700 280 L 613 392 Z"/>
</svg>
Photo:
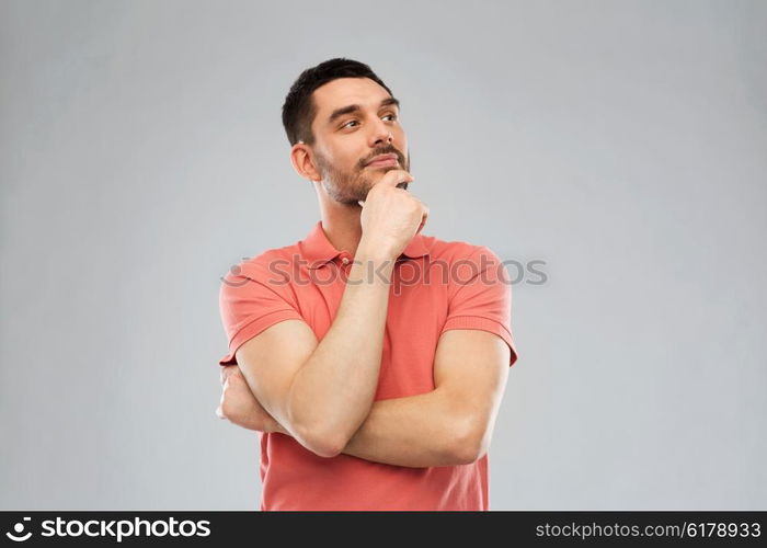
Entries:
<svg viewBox="0 0 767 548">
<path fill-rule="evenodd" d="M 481 329 L 503 339 L 511 349 L 508 366 L 517 361 L 512 334 L 512 282 L 505 265 L 481 246 L 450 267 L 448 312 L 442 333 L 450 329 Z"/>
</svg>

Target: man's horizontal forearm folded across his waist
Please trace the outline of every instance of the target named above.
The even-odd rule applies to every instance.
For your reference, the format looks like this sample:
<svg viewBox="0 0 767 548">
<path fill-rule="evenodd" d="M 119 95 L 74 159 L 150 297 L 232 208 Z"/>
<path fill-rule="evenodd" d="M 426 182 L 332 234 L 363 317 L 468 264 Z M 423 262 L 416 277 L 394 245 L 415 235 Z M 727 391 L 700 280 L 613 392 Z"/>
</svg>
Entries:
<svg viewBox="0 0 767 548">
<path fill-rule="evenodd" d="M 342 453 L 408 467 L 466 464 L 471 425 L 461 416 L 467 415 L 457 413 L 456 402 L 439 390 L 378 400 Z"/>
</svg>

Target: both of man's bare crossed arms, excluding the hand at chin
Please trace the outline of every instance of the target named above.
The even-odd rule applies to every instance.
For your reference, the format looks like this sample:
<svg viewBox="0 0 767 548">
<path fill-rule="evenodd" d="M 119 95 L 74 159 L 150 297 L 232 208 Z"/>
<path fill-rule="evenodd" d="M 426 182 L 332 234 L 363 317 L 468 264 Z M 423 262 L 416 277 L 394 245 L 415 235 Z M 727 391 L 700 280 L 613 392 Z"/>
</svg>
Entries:
<svg viewBox="0 0 767 548">
<path fill-rule="evenodd" d="M 370 253 L 350 279 L 360 279 Z M 388 271 L 391 274 L 391 264 Z M 298 319 L 277 322 L 243 343 L 222 374 L 219 416 L 293 436 L 322 457 L 341 453 L 407 467 L 472 463 L 488 450 L 508 374 L 510 347 L 474 329 L 445 331 L 434 361 L 434 390 L 374 401 L 389 284 L 347 284 L 332 327 L 318 342 Z"/>
</svg>

